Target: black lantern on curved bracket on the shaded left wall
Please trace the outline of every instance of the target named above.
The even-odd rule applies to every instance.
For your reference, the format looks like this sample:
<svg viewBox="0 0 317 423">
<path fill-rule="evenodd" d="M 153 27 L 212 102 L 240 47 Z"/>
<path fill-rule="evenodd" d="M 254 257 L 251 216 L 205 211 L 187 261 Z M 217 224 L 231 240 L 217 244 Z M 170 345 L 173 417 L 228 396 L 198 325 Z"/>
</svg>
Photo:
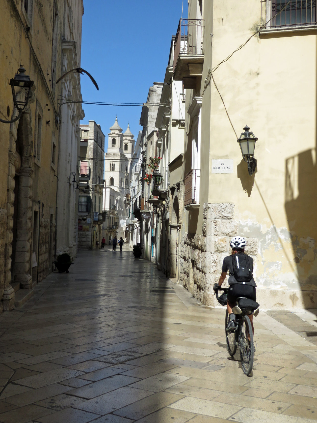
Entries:
<svg viewBox="0 0 317 423">
<path fill-rule="evenodd" d="M 13 122 L 19 120 L 30 99 L 31 88 L 34 84 L 34 81 L 31 81 L 29 75 L 25 74 L 25 68 L 23 66 L 19 67 L 18 72 L 19 73 L 15 74 L 14 78 L 10 80 L 10 85 L 12 89 L 13 103 L 17 108 L 19 115 L 11 121 L 4 121 L 0 119 L 0 122 L 3 122 L 4 124 L 12 124 Z M 24 96 L 22 95 L 21 100 L 16 99 L 16 90 L 18 88 L 24 88 L 25 90 Z"/>
</svg>

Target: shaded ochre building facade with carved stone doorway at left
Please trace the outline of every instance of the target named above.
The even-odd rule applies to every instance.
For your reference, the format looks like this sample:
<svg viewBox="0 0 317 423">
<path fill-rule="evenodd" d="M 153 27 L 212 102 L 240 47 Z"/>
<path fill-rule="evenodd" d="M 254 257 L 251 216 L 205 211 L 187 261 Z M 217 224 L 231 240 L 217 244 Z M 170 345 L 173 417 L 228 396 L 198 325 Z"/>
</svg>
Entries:
<svg viewBox="0 0 317 423">
<path fill-rule="evenodd" d="M 61 93 L 56 81 L 62 75 L 63 39 L 74 41 L 76 33 L 79 40 L 83 13 L 82 0 L 51 0 L 43 7 L 20 0 L 1 5 L 1 119 L 17 115 L 8 82 L 21 64 L 34 85 L 19 120 L 0 123 L 0 310 L 22 304 L 52 271 Z"/>
</svg>

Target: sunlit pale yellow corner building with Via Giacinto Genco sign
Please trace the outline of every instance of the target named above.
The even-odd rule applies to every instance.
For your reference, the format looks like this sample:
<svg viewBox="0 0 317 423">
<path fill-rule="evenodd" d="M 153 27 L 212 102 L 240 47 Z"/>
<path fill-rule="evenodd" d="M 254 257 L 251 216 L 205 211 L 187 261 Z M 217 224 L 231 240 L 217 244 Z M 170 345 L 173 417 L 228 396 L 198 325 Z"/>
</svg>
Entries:
<svg viewBox="0 0 317 423">
<path fill-rule="evenodd" d="M 173 79 L 186 90 L 175 260 L 180 283 L 207 305 L 235 235 L 247 239 L 262 308 L 317 301 L 316 11 L 298 3 L 306 17 L 295 25 L 292 6 L 278 19 L 274 4 L 247 0 L 245 14 L 239 2 L 189 0 L 175 38 Z M 253 173 L 237 143 L 246 123 L 258 139 Z M 219 160 L 230 171 L 217 171 Z"/>
</svg>

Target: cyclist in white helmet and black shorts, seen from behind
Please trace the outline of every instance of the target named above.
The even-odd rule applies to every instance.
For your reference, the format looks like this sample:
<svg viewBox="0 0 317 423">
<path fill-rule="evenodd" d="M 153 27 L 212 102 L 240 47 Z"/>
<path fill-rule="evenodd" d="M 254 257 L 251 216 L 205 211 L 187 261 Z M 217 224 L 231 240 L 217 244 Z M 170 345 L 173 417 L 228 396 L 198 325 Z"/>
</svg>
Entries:
<svg viewBox="0 0 317 423">
<path fill-rule="evenodd" d="M 216 291 L 218 290 L 224 280 L 226 279 L 227 272 L 229 270 L 229 289 L 227 293 L 227 310 L 229 314 L 229 321 L 227 325 L 227 332 L 234 332 L 236 328 L 235 323 L 235 315 L 232 313 L 232 307 L 236 305 L 236 301 L 238 297 L 245 297 L 253 299 L 254 301 L 257 300 L 257 294 L 255 291 L 256 283 L 253 279 L 246 282 L 238 282 L 234 276 L 233 264 L 232 264 L 232 257 L 235 254 L 245 254 L 244 247 L 246 246 L 246 240 L 242 236 L 235 236 L 230 241 L 230 247 L 232 248 L 232 255 L 229 255 L 224 258 L 221 275 L 219 278 L 219 282 L 215 283 L 213 289 Z M 247 260 L 249 261 L 249 266 L 251 270 L 251 274 L 253 272 L 253 258 L 247 255 Z M 252 325 L 252 332 L 254 333 L 253 328 L 253 315 L 249 315 L 251 325 Z"/>
</svg>

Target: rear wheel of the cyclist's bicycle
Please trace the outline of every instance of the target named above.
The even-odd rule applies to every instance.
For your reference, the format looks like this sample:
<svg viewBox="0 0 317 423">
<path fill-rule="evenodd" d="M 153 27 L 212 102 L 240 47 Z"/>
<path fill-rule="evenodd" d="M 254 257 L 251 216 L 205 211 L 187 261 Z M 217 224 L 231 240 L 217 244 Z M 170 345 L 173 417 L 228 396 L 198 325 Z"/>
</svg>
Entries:
<svg viewBox="0 0 317 423">
<path fill-rule="evenodd" d="M 249 376 L 253 367 L 254 348 L 252 327 L 248 316 L 243 316 L 241 319 L 239 348 L 243 373 Z"/>
</svg>

